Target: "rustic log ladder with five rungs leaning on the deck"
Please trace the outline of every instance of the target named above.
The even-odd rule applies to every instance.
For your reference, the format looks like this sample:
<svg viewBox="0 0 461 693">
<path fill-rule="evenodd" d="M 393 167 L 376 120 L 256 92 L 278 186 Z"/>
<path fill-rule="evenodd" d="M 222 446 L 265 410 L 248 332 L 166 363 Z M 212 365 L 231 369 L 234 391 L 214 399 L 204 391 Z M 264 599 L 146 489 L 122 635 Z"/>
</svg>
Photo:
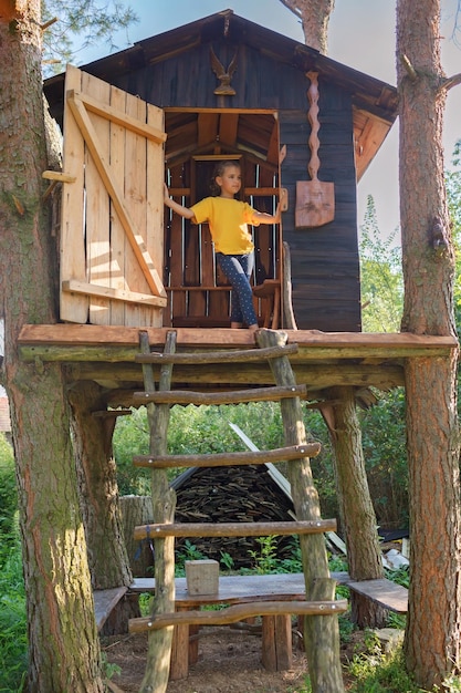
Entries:
<svg viewBox="0 0 461 693">
<path fill-rule="evenodd" d="M 297 352 L 296 344 L 286 344 L 286 334 L 273 330 L 256 333 L 256 349 L 216 351 L 208 353 L 176 353 L 176 332 L 167 333 L 163 353 L 150 352 L 148 333 L 140 332 L 140 354 L 145 391 L 135 393 L 136 404 L 145 404 L 150 428 L 149 455 L 137 456 L 134 463 L 151 469 L 154 523 L 136 528 L 136 538 L 154 539 L 155 598 L 151 614 L 132 619 L 130 632 L 149 632 L 146 673 L 140 693 L 164 693 L 169 678 L 174 627 L 210 624 L 210 612 L 175 611 L 175 537 L 244 537 L 300 535 L 305 601 L 254 601 L 227 607 L 213 613 L 213 624 L 240 621 L 253 616 L 300 614 L 305 622 L 305 644 L 313 691 L 340 693 L 343 689 L 339 663 L 337 616 L 347 609 L 345 600 L 335 600 L 336 581 L 329 576 L 323 532 L 336 528 L 335 520 L 321 519 L 310 457 L 319 452 L 318 443 L 307 443 L 303 426 L 301 399 L 306 387 L 296 385 L 289 355 Z M 274 376 L 274 387 L 249 389 L 237 392 L 200 393 L 171 391 L 174 364 L 211 365 L 216 363 L 268 360 Z M 158 387 L 154 365 L 159 366 Z M 237 404 L 241 402 L 279 401 L 285 434 L 285 447 L 262 452 L 239 452 L 200 455 L 167 455 L 169 408 L 174 404 Z M 167 468 L 226 465 L 254 465 L 270 461 L 287 461 L 296 521 L 292 523 L 227 523 L 175 524 L 176 494 L 170 488 Z M 199 532 L 199 534 L 198 534 Z M 324 617 L 333 617 L 325 619 Z M 317 689 L 317 684 L 321 686 Z"/>
</svg>

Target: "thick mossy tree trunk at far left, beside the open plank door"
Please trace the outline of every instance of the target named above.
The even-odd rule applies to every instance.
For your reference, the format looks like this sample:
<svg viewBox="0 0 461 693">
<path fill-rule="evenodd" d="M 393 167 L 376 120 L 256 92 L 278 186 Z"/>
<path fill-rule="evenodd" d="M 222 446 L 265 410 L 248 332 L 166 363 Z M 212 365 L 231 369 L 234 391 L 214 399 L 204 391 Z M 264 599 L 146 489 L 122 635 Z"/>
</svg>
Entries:
<svg viewBox="0 0 461 693">
<path fill-rule="evenodd" d="M 54 322 L 56 267 L 43 209 L 46 168 L 40 2 L 0 12 L 0 296 L 28 610 L 30 693 L 98 693 L 99 645 L 78 507 L 65 383 L 21 362 L 24 323 Z"/>
</svg>

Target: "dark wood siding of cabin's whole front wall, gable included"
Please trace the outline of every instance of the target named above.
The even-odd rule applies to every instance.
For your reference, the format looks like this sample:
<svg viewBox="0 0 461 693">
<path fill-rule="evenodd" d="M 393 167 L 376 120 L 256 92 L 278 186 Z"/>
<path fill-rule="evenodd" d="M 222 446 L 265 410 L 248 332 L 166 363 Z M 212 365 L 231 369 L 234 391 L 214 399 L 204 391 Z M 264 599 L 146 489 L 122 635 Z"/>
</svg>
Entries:
<svg viewBox="0 0 461 693">
<path fill-rule="evenodd" d="M 321 180 L 333 182 L 335 186 L 335 219 L 331 224 L 310 230 L 294 227 L 295 184 L 308 180 L 307 163 L 310 124 L 307 121 L 308 79 L 300 65 L 277 61 L 269 45 L 253 48 L 251 37 L 232 35 L 224 39 L 222 32 L 213 34 L 208 28 L 196 43 L 187 49 L 180 44 L 169 44 L 168 55 L 159 55 L 155 41 L 144 45 L 144 61 L 135 61 L 127 69 L 104 74 L 111 83 L 132 94 L 139 95 L 155 105 L 181 110 L 272 110 L 279 113 L 280 145 L 286 145 L 287 155 L 282 166 L 282 185 L 289 189 L 290 209 L 283 217 L 283 238 L 291 248 L 293 302 L 300 329 L 324 331 L 359 331 L 360 285 L 356 210 L 356 169 L 354 161 L 354 123 L 352 92 L 342 84 L 332 82 L 319 71 L 319 122 Z M 264 34 L 265 35 L 265 34 Z M 272 35 L 272 34 L 271 34 Z M 274 34 L 275 35 L 275 34 Z M 269 34 L 268 34 L 269 37 Z M 211 40 L 212 39 L 212 40 Z M 241 41 L 239 43 L 239 40 Z M 269 40 L 269 39 L 268 39 Z M 210 46 L 221 63 L 228 68 L 235 51 L 238 68 L 232 77 L 234 96 L 217 96 L 213 91 L 218 79 L 211 69 Z M 149 53 L 150 50 L 150 53 Z M 134 54 L 134 56 L 136 56 Z M 109 60 L 109 59 L 108 59 Z M 115 59 L 111 59 L 115 61 Z M 294 60 L 294 58 L 293 58 Z M 322 61 L 321 61 L 322 62 Z M 329 65 L 329 63 L 327 63 Z M 333 63 L 332 63 L 333 64 Z M 340 65 L 337 65 L 340 70 Z M 357 80 L 359 73 L 357 73 Z M 251 116 L 253 117 L 253 116 Z M 254 116 L 256 117 L 256 116 Z M 171 121 L 172 122 L 172 121 Z M 180 125 L 178 126 L 180 133 Z M 171 139 L 174 133 L 168 133 Z M 192 155 L 199 151 L 197 128 L 191 130 L 192 146 L 187 148 Z M 245 142 L 239 151 L 245 156 Z M 167 143 L 168 145 L 168 143 Z M 193 148 L 196 146 L 196 149 Z M 231 151 L 231 149 L 230 149 Z M 276 152 L 276 149 L 275 149 Z M 182 176 L 177 175 L 177 186 L 188 187 L 190 182 L 186 161 L 175 162 L 181 166 Z M 179 170 L 179 169 L 178 169 Z M 263 185 L 260 183 L 260 185 Z M 268 185 L 268 184 L 265 184 Z M 189 200 L 185 200 L 187 204 Z M 258 205 L 262 204 L 260 199 Z M 178 224 L 175 221 L 175 224 Z M 167 228 L 168 241 L 174 228 Z M 178 231 L 176 231 L 178 232 Z M 277 256 L 276 256 L 277 257 Z M 256 258 L 261 269 L 261 258 Z M 174 272 L 174 261 L 166 258 L 166 271 Z M 269 263 L 264 268 L 268 276 L 276 275 Z M 187 282 L 200 281 L 198 268 L 189 265 Z M 261 273 L 261 272 L 260 272 Z M 193 280 L 193 281 L 192 281 Z M 220 297 L 222 301 L 223 297 Z M 184 301 L 182 298 L 178 300 Z M 193 301 L 203 301 L 197 297 Z M 213 299 L 214 300 L 214 299 Z M 222 311 L 226 313 L 226 311 Z"/>
</svg>

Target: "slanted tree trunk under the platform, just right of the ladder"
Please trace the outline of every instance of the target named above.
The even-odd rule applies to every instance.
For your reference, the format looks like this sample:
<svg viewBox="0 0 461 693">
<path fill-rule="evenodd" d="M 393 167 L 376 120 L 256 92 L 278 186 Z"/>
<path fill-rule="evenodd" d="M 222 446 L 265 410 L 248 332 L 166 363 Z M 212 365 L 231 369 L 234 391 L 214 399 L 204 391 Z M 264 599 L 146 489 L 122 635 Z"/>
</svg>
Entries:
<svg viewBox="0 0 461 693">
<path fill-rule="evenodd" d="M 353 580 L 384 578 L 375 510 L 369 495 L 354 387 L 329 392 L 335 423 L 331 431 L 340 523 Z M 387 610 L 363 594 L 350 594 L 352 620 L 359 628 L 384 628 Z"/>
</svg>

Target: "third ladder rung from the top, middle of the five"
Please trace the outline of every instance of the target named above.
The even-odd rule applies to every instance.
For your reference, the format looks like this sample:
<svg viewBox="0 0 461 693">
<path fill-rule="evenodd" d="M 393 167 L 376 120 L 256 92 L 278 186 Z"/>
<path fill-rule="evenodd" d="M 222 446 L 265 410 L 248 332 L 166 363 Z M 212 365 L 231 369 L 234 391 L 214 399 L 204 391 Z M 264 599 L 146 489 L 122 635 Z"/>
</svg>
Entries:
<svg viewBox="0 0 461 693">
<path fill-rule="evenodd" d="M 270 451 L 244 451 L 239 453 L 210 453 L 209 455 L 136 455 L 137 467 L 165 469 L 175 467 L 228 467 L 233 465 L 266 464 L 303 457 L 315 457 L 321 452 L 319 443 L 291 445 Z"/>
</svg>

